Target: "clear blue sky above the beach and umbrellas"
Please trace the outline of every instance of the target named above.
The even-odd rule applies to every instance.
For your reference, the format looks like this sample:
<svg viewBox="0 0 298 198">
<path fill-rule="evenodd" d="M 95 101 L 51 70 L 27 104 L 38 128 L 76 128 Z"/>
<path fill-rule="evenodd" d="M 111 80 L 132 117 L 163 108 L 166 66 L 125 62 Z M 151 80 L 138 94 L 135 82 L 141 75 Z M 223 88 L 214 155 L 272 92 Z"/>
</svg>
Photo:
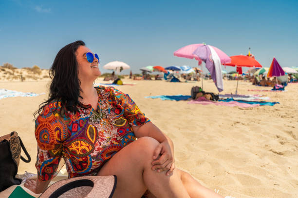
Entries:
<svg viewBox="0 0 298 198">
<path fill-rule="evenodd" d="M 298 0 L 0 0 L 0 65 L 50 68 L 59 49 L 83 40 L 100 66 L 123 61 L 134 73 L 197 66 L 173 52 L 202 42 L 229 56 L 250 47 L 262 66 L 273 56 L 280 66 L 298 66 L 297 10 Z"/>
</svg>

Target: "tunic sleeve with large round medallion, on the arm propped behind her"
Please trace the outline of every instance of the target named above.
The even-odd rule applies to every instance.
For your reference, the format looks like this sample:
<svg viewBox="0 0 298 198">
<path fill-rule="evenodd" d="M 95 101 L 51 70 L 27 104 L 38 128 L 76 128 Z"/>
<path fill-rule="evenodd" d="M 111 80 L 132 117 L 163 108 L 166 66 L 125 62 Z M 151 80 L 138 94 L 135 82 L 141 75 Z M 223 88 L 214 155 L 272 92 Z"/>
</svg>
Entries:
<svg viewBox="0 0 298 198">
<path fill-rule="evenodd" d="M 67 125 L 57 113 L 45 107 L 35 121 L 37 140 L 37 176 L 40 181 L 53 179 L 62 156 L 62 143 L 67 138 Z M 59 171 L 59 170 L 58 170 Z"/>
</svg>

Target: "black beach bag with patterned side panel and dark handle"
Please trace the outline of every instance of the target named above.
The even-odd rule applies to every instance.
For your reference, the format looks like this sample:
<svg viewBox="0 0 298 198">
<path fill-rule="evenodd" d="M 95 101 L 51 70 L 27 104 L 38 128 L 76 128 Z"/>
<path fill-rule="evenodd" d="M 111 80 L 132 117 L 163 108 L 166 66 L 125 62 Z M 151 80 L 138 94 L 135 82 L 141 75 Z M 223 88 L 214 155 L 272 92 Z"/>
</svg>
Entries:
<svg viewBox="0 0 298 198">
<path fill-rule="evenodd" d="M 28 160 L 21 156 L 21 149 L 25 152 Z M 16 178 L 19 167 L 19 159 L 29 163 L 31 157 L 24 147 L 17 132 L 0 137 L 0 191 L 9 186 L 19 185 L 21 180 Z"/>
</svg>

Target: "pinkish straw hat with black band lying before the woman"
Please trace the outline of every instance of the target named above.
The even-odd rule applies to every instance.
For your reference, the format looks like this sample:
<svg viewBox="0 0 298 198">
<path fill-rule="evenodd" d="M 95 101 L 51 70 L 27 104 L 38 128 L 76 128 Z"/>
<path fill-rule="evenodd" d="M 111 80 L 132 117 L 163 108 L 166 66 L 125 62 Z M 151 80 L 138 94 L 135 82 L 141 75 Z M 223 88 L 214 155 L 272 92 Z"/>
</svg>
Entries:
<svg viewBox="0 0 298 198">
<path fill-rule="evenodd" d="M 57 181 L 39 198 L 112 198 L 117 177 L 85 176 Z"/>
</svg>

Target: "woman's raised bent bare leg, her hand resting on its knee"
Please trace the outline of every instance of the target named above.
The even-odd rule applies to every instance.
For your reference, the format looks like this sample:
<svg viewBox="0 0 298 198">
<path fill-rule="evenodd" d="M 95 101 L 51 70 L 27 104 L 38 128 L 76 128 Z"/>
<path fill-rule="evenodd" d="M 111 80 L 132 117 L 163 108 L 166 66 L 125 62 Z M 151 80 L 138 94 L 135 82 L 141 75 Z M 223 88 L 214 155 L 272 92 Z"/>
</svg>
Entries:
<svg viewBox="0 0 298 198">
<path fill-rule="evenodd" d="M 189 198 L 178 170 L 170 176 L 151 169 L 153 151 L 158 142 L 142 137 L 118 151 L 98 172 L 116 175 L 113 198 L 140 198 L 147 189 L 158 198 Z"/>
</svg>

